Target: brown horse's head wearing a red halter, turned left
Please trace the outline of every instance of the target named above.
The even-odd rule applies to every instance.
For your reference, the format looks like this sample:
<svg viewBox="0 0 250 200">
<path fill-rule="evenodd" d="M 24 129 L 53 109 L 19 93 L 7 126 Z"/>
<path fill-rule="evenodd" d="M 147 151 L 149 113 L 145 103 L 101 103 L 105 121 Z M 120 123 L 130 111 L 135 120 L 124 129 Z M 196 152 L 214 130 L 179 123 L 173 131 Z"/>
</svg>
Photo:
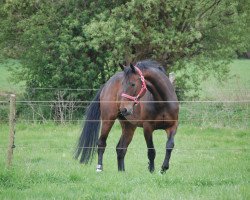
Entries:
<svg viewBox="0 0 250 200">
<path fill-rule="evenodd" d="M 145 94 L 147 87 L 141 70 L 133 66 L 121 66 L 124 71 L 124 79 L 122 81 L 122 98 L 120 103 L 120 111 L 123 116 L 131 115 L 134 106 L 139 103 L 140 98 Z"/>
</svg>

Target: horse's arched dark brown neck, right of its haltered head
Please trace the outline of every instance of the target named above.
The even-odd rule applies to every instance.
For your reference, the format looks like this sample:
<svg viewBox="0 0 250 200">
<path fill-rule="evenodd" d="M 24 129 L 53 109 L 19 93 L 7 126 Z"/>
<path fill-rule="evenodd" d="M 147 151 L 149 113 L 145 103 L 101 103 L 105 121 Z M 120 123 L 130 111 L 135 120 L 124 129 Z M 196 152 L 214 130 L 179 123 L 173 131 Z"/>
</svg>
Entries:
<svg viewBox="0 0 250 200">
<path fill-rule="evenodd" d="M 177 101 L 173 86 L 169 79 L 157 69 L 144 73 L 148 89 L 156 101 Z"/>
</svg>

